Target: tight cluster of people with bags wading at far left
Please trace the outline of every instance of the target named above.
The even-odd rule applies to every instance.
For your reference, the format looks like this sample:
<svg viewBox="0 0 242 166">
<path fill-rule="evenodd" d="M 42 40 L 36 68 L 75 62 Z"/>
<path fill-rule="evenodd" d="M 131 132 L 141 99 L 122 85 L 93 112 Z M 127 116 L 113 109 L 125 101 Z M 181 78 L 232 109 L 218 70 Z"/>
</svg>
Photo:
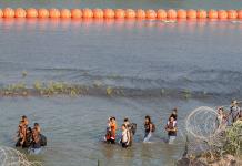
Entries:
<svg viewBox="0 0 242 166">
<path fill-rule="evenodd" d="M 17 131 L 16 147 L 28 148 L 30 154 L 39 154 L 41 147 L 47 145 L 47 138 L 41 134 L 39 123 L 34 123 L 33 127 L 29 127 L 29 120 L 23 115 L 20 120 Z"/>
</svg>

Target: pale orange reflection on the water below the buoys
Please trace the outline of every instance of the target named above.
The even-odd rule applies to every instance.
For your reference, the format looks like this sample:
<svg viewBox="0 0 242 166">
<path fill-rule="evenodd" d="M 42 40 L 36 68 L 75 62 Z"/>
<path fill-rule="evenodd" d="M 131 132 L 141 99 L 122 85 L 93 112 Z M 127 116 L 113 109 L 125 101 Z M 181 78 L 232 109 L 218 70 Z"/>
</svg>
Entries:
<svg viewBox="0 0 242 166">
<path fill-rule="evenodd" d="M 240 29 L 242 23 L 233 22 L 229 20 L 174 20 L 174 22 L 164 22 L 161 20 L 115 20 L 115 19 L 0 19 L 1 28 L 4 31 L 16 30 L 41 30 L 41 31 L 54 31 L 54 30 L 73 30 L 78 31 L 83 28 L 90 30 L 133 30 L 133 29 L 157 29 L 170 31 L 179 31 L 196 33 L 198 30 L 202 33 L 208 28 L 211 31 L 219 31 L 221 34 L 228 29 Z"/>
</svg>

